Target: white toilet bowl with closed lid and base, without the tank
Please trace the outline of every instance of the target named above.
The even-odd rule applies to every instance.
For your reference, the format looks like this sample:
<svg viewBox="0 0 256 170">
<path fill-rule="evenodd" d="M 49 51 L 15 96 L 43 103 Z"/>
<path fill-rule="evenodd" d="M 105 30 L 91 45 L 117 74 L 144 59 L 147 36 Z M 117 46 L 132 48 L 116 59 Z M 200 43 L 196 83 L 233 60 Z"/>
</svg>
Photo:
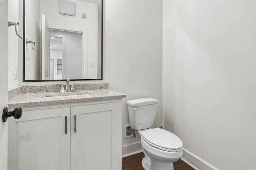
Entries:
<svg viewBox="0 0 256 170">
<path fill-rule="evenodd" d="M 173 133 L 160 128 L 142 131 L 141 147 L 150 162 L 142 160 L 145 170 L 173 170 L 173 162 L 183 154 L 182 141 Z"/>
</svg>

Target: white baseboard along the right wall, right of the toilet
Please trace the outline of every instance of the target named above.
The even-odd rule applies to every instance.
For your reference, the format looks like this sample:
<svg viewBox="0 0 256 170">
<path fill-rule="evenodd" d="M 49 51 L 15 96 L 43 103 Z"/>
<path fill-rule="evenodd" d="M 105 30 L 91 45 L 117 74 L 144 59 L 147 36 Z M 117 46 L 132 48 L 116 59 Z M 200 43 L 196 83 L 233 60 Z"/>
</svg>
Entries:
<svg viewBox="0 0 256 170">
<path fill-rule="evenodd" d="M 212 165 L 208 164 L 204 160 L 188 152 L 186 149 L 183 149 L 183 155 L 182 158 L 180 159 L 186 162 L 195 170 L 218 170 L 217 168 L 214 168 Z"/>
</svg>

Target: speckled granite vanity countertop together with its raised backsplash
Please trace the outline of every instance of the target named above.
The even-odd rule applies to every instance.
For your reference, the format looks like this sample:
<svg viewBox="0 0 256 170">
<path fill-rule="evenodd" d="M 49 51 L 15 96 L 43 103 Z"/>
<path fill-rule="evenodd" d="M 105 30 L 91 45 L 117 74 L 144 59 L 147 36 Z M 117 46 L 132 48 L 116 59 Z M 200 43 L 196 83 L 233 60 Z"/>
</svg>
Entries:
<svg viewBox="0 0 256 170">
<path fill-rule="evenodd" d="M 126 98 L 108 83 L 74 84 L 76 92 L 60 93 L 60 85 L 21 86 L 9 91 L 8 107 L 31 107 Z"/>
</svg>

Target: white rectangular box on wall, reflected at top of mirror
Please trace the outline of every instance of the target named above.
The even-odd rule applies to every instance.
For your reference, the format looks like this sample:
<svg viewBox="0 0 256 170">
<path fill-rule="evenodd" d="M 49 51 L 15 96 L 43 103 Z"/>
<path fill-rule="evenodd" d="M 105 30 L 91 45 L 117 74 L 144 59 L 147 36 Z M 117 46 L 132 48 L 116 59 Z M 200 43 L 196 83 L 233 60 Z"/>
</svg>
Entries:
<svg viewBox="0 0 256 170">
<path fill-rule="evenodd" d="M 59 13 L 68 16 L 76 16 L 76 4 L 75 2 L 60 0 Z"/>
</svg>

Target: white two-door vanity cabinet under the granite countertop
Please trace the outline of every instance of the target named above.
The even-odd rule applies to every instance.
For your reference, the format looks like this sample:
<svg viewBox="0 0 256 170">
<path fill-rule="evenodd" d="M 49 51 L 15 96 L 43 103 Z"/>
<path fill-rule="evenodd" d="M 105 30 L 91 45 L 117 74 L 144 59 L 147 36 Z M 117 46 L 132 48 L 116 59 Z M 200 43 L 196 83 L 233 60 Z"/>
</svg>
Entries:
<svg viewBox="0 0 256 170">
<path fill-rule="evenodd" d="M 8 170 L 122 169 L 121 99 L 22 109 L 9 122 Z"/>
</svg>

